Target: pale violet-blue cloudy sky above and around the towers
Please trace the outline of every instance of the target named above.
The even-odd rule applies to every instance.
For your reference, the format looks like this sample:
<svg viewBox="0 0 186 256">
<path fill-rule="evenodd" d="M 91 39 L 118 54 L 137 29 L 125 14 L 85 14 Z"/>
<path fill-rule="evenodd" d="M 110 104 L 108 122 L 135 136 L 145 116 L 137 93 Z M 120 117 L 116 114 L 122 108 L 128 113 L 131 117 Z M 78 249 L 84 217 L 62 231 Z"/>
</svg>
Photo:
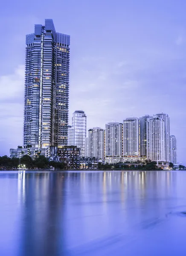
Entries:
<svg viewBox="0 0 186 256">
<path fill-rule="evenodd" d="M 3 1 L 0 9 L 0 155 L 22 145 L 25 35 L 52 18 L 70 43 L 70 113 L 87 128 L 168 113 L 186 164 L 186 1 Z"/>
</svg>

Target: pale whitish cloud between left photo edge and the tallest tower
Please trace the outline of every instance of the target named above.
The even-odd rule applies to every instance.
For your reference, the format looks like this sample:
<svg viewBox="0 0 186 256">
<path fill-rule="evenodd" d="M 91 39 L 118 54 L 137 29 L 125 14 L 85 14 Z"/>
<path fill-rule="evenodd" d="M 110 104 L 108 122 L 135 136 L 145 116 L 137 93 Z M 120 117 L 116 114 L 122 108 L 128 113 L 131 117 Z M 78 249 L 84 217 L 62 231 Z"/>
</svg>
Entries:
<svg viewBox="0 0 186 256">
<path fill-rule="evenodd" d="M 19 65 L 12 74 L 0 76 L 0 87 L 0 121 L 3 123 L 0 144 L 9 155 L 9 147 L 22 143 L 24 66 Z"/>
</svg>

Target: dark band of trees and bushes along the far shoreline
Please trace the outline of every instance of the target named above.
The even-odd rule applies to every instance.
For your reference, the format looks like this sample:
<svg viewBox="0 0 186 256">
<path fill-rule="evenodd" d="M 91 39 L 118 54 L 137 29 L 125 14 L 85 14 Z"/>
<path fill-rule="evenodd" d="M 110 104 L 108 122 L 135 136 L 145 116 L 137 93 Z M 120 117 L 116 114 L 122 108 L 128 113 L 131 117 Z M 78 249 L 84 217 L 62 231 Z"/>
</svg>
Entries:
<svg viewBox="0 0 186 256">
<path fill-rule="evenodd" d="M 64 162 L 55 162 L 55 161 L 49 161 L 48 158 L 44 156 L 39 156 L 35 158 L 35 160 L 32 160 L 32 158 L 29 155 L 24 155 L 21 158 L 16 157 L 8 157 L 3 156 L 0 157 L 0 170 L 17 170 L 20 166 L 22 166 L 22 169 L 30 170 L 30 171 L 46 171 L 46 170 L 55 170 L 55 171 L 70 171 L 70 170 L 98 170 L 98 171 L 110 171 L 110 170 L 122 170 L 122 171 L 151 171 L 151 170 L 163 170 L 161 166 L 157 166 L 155 161 L 146 160 L 144 163 L 140 163 L 139 161 L 136 162 L 125 162 L 125 163 L 115 163 L 115 164 L 103 164 L 98 163 L 98 165 L 95 168 L 70 168 L 70 166 L 67 166 Z M 23 168 L 24 166 L 24 168 Z M 169 167 L 173 168 L 173 164 L 169 163 Z M 174 168 L 173 168 L 174 169 Z M 185 170 L 186 167 L 180 165 L 180 170 Z"/>
</svg>

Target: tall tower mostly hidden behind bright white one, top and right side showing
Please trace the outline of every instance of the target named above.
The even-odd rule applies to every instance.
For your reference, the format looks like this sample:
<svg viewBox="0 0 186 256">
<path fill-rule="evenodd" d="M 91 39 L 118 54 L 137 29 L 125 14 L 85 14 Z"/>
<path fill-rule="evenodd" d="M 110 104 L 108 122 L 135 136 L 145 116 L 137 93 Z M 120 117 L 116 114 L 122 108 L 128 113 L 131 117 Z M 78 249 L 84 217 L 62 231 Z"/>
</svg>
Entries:
<svg viewBox="0 0 186 256">
<path fill-rule="evenodd" d="M 169 115 L 166 113 L 160 113 L 156 114 L 155 117 L 159 117 L 164 120 L 165 122 L 165 161 L 170 162 L 170 154 L 171 154 L 171 149 L 170 149 L 170 120 L 169 120 Z"/>
</svg>

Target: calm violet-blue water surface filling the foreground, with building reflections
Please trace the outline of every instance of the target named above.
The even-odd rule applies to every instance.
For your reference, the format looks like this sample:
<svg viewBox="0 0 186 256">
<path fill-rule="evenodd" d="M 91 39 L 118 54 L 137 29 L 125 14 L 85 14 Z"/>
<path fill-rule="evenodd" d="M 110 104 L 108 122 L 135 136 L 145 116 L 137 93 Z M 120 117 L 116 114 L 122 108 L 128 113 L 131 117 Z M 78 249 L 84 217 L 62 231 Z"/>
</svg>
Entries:
<svg viewBox="0 0 186 256">
<path fill-rule="evenodd" d="M 2 256 L 185 256 L 186 172 L 0 172 Z"/>
</svg>

